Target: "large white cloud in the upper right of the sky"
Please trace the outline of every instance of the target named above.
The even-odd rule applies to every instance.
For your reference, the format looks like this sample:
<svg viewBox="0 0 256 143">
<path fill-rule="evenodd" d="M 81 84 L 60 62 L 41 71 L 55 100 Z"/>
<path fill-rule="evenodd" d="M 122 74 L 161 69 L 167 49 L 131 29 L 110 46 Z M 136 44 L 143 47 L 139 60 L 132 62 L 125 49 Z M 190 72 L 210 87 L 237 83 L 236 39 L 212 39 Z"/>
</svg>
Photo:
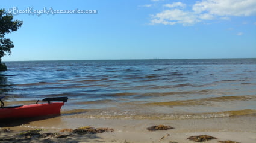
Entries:
<svg viewBox="0 0 256 143">
<path fill-rule="evenodd" d="M 256 0 L 201 0 L 187 8 L 182 2 L 164 4 L 169 10 L 163 10 L 152 17 L 152 24 L 193 25 L 203 20 L 229 20 L 230 16 L 256 15 Z"/>
</svg>

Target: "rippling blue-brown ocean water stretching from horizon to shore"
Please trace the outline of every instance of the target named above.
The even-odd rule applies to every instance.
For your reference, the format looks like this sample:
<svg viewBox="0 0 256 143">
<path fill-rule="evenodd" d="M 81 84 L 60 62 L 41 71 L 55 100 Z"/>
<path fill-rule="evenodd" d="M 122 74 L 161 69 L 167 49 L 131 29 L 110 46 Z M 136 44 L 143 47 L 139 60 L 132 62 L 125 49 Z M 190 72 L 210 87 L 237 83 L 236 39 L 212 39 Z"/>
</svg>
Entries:
<svg viewBox="0 0 256 143">
<path fill-rule="evenodd" d="M 256 115 L 256 59 L 4 62 L 5 105 L 68 96 L 70 118 Z"/>
</svg>

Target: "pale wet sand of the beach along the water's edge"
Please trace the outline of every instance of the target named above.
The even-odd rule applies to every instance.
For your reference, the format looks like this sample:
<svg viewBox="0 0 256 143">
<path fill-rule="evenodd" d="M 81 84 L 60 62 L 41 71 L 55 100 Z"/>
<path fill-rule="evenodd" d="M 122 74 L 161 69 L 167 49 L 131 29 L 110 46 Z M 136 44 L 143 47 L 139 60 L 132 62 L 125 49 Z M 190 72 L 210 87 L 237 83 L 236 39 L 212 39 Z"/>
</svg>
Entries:
<svg viewBox="0 0 256 143">
<path fill-rule="evenodd" d="M 207 142 L 231 140 L 251 143 L 256 141 L 255 123 L 255 115 L 186 120 L 89 119 L 60 116 L 40 121 L 30 121 L 27 124 L 16 124 L 17 126 L 11 126 L 10 124 L 5 128 L 10 128 L 13 132 L 1 133 L 0 138 L 10 138 L 22 130 L 44 129 L 42 132 L 60 132 L 61 129 L 91 126 L 97 128 L 109 127 L 114 129 L 114 132 L 75 135 L 66 138 L 32 138 L 19 142 L 193 142 L 187 140 L 187 138 L 194 135 L 211 135 L 217 139 Z M 147 127 L 158 124 L 172 126 L 175 129 L 146 130 Z M 166 137 L 161 139 L 163 136 Z"/>
</svg>

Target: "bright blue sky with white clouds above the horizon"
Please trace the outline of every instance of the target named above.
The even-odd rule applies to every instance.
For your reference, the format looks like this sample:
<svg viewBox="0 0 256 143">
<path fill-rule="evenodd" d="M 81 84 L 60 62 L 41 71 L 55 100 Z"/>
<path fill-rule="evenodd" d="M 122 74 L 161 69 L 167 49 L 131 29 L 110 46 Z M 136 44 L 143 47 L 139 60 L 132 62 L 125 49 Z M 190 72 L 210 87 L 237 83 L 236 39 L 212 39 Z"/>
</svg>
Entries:
<svg viewBox="0 0 256 143">
<path fill-rule="evenodd" d="M 1 0 L 12 7 L 98 14 L 17 14 L 4 61 L 256 57 L 255 0 Z"/>
</svg>

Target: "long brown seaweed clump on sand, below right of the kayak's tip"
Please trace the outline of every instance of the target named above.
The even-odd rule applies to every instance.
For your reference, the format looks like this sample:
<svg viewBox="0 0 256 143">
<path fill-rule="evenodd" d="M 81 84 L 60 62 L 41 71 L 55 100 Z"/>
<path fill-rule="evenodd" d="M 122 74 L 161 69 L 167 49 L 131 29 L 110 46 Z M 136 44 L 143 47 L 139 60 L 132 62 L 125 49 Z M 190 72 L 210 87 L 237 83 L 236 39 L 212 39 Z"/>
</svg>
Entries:
<svg viewBox="0 0 256 143">
<path fill-rule="evenodd" d="M 93 128 L 90 126 L 85 126 L 85 127 L 79 127 L 78 129 L 74 130 L 62 130 L 62 131 L 72 131 L 72 133 L 77 133 L 77 134 L 95 134 L 95 133 L 104 133 L 104 132 L 113 132 L 114 129 L 110 128 Z"/>
</svg>

